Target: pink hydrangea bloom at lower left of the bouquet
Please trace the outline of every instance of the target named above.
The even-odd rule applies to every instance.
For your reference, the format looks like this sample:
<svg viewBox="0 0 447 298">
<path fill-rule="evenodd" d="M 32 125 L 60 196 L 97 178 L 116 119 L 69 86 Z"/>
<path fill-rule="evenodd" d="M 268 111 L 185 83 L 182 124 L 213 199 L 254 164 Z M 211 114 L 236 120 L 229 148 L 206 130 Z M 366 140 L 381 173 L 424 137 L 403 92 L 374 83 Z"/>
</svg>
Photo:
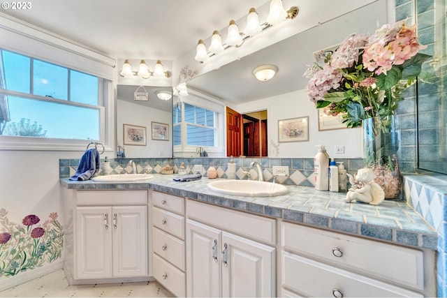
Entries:
<svg viewBox="0 0 447 298">
<path fill-rule="evenodd" d="M 342 73 L 336 68 L 327 65 L 324 66 L 323 69 L 318 70 L 314 77 L 309 80 L 307 84 L 307 95 L 314 103 L 317 100 L 323 100 L 330 89 L 340 87 L 342 77 Z"/>
</svg>

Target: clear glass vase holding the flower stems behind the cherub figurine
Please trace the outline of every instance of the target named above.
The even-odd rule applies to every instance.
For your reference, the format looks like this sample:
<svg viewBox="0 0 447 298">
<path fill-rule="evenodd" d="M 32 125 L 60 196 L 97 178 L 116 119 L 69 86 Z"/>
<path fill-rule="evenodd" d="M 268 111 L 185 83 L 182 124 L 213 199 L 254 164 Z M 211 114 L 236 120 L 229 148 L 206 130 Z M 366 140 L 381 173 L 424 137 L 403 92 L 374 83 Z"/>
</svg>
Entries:
<svg viewBox="0 0 447 298">
<path fill-rule="evenodd" d="M 362 122 L 365 165 L 374 170 L 374 182 L 385 191 L 386 199 L 400 199 L 402 193 L 397 163 L 400 149 L 398 126 L 394 115 L 364 119 Z"/>
</svg>

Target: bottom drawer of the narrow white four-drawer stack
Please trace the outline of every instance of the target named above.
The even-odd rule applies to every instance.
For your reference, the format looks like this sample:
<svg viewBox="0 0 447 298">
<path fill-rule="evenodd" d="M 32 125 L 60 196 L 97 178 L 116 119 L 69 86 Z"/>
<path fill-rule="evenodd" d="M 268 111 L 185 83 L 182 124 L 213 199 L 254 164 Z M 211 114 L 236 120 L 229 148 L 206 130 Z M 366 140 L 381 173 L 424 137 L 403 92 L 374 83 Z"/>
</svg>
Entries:
<svg viewBox="0 0 447 298">
<path fill-rule="evenodd" d="M 185 274 L 155 254 L 154 277 L 176 297 L 186 297 Z"/>
</svg>

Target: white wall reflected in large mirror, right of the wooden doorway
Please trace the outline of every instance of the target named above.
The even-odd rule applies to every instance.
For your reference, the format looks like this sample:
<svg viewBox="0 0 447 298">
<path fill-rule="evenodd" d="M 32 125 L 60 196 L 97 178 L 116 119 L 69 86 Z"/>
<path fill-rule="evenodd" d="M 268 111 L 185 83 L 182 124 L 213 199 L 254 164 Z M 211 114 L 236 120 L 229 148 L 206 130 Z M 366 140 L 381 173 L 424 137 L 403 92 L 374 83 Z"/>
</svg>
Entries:
<svg viewBox="0 0 447 298">
<path fill-rule="evenodd" d="M 281 94 L 251 103 L 236 105 L 241 114 L 268 110 L 268 156 L 312 158 L 316 145 L 324 144 L 331 158 L 362 158 L 362 130 L 344 128 L 334 131 L 318 131 L 318 111 L 309 101 L 305 90 Z M 278 142 L 278 120 L 309 116 L 309 142 Z M 274 152 L 271 142 L 279 144 Z M 335 154 L 335 146 L 344 146 L 344 154 Z"/>
</svg>

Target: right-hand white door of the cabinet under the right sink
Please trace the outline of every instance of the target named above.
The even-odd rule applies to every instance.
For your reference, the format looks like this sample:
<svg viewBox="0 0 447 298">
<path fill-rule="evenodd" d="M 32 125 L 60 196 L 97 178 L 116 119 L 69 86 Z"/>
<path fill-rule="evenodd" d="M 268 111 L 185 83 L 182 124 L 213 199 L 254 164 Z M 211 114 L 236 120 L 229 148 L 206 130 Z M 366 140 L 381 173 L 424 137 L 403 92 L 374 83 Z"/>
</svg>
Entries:
<svg viewBox="0 0 447 298">
<path fill-rule="evenodd" d="M 223 297 L 274 297 L 275 249 L 222 232 Z"/>
</svg>

